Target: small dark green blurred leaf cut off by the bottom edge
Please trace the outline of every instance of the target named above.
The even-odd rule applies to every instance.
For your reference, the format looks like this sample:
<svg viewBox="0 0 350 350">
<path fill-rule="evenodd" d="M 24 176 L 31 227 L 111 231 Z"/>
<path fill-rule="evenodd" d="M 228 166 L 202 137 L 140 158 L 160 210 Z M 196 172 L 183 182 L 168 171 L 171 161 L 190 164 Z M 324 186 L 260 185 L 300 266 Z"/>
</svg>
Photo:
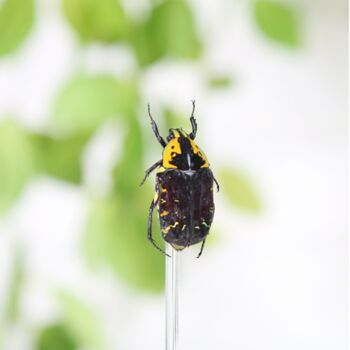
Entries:
<svg viewBox="0 0 350 350">
<path fill-rule="evenodd" d="M 36 350 L 75 350 L 77 343 L 63 324 L 57 323 L 41 330 Z"/>
</svg>

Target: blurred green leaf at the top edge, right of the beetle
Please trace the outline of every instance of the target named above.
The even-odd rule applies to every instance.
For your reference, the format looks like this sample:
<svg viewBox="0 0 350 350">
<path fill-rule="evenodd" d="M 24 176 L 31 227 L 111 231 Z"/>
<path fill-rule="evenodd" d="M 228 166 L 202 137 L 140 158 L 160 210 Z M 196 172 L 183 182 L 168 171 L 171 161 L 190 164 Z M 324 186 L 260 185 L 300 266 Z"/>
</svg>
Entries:
<svg viewBox="0 0 350 350">
<path fill-rule="evenodd" d="M 291 4 L 257 0 L 254 16 L 260 30 L 269 39 L 289 46 L 300 43 L 298 17 Z"/>
</svg>

